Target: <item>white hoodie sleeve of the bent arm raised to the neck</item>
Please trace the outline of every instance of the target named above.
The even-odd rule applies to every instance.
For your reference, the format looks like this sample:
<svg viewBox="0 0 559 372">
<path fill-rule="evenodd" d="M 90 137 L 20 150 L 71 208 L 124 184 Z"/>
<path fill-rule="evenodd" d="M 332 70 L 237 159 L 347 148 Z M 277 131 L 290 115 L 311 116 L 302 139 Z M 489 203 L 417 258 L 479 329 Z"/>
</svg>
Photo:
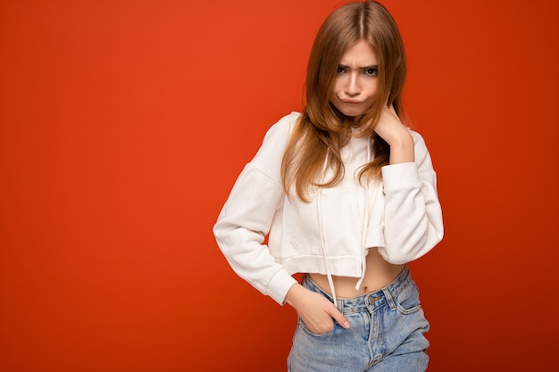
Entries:
<svg viewBox="0 0 559 372">
<path fill-rule="evenodd" d="M 382 168 L 384 238 L 380 255 L 390 263 L 419 259 L 443 238 L 437 175 L 423 138 L 412 131 L 415 162 Z"/>
</svg>

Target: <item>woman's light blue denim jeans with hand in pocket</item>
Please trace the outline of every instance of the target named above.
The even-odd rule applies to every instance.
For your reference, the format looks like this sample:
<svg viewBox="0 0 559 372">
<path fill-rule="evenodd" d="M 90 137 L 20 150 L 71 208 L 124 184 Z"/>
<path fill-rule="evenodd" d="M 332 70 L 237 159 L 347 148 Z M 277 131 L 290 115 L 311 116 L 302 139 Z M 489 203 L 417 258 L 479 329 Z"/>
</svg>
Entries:
<svg viewBox="0 0 559 372">
<path fill-rule="evenodd" d="M 325 293 L 305 276 L 302 283 L 313 292 Z M 423 335 L 429 322 L 423 315 L 419 291 L 405 268 L 386 287 L 374 293 L 338 299 L 351 324 L 335 323 L 329 333 L 309 331 L 299 318 L 288 357 L 289 372 L 423 372 L 429 341 Z"/>
</svg>

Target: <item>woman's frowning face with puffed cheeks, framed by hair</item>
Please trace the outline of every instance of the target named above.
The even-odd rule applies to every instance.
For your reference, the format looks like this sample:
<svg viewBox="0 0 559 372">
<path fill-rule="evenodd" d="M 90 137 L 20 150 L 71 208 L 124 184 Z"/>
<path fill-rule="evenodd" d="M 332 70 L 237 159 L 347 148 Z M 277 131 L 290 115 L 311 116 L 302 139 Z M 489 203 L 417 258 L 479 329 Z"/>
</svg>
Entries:
<svg viewBox="0 0 559 372">
<path fill-rule="evenodd" d="M 378 70 L 377 55 L 366 41 L 350 45 L 339 61 L 330 102 L 346 116 L 363 115 L 374 103 Z"/>
</svg>

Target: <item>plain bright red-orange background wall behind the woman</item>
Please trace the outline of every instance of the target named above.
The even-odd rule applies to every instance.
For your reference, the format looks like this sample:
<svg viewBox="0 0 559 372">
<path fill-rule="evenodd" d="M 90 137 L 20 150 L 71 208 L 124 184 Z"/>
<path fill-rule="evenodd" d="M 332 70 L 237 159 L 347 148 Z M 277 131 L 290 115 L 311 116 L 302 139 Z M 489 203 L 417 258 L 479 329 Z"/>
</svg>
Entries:
<svg viewBox="0 0 559 372">
<path fill-rule="evenodd" d="M 284 371 L 211 227 L 340 0 L 0 2 L 0 369 Z M 557 368 L 559 3 L 386 0 L 446 237 L 430 371 Z"/>
</svg>

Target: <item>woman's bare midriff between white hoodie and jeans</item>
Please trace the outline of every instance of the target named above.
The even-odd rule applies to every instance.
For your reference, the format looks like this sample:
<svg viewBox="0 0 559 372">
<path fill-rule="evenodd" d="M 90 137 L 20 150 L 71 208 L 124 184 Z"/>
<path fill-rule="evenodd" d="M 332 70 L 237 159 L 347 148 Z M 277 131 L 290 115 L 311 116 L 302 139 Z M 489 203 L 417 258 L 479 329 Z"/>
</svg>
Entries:
<svg viewBox="0 0 559 372">
<path fill-rule="evenodd" d="M 332 276 L 336 297 L 350 298 L 380 290 L 392 282 L 405 265 L 394 265 L 384 260 L 376 248 L 369 249 L 366 257 L 367 269 L 359 290 L 355 289 L 358 278 Z M 328 277 L 322 274 L 308 274 L 316 285 L 326 293 L 331 293 Z"/>
</svg>

